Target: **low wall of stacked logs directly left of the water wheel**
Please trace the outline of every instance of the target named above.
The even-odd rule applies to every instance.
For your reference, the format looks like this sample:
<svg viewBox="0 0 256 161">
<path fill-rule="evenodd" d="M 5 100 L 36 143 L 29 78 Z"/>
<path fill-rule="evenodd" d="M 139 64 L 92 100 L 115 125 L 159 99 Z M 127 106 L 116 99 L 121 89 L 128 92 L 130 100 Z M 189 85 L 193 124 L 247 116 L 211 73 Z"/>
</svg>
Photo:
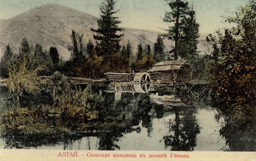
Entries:
<svg viewBox="0 0 256 161">
<path fill-rule="evenodd" d="M 106 79 L 111 82 L 131 82 L 132 76 L 129 73 L 104 73 Z"/>
</svg>

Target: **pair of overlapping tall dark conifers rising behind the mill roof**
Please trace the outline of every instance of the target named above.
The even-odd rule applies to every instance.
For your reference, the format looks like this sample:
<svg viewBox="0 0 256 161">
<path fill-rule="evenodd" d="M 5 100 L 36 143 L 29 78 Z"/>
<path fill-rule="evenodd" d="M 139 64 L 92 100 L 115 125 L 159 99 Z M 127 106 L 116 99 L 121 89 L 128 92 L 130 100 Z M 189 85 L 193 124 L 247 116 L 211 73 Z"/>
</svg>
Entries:
<svg viewBox="0 0 256 161">
<path fill-rule="evenodd" d="M 197 44 L 199 38 L 199 24 L 196 23 L 195 11 L 188 6 L 185 0 L 166 0 L 172 11 L 166 12 L 163 21 L 171 23 L 165 36 L 175 41 L 174 59 L 178 56 L 183 59 L 193 60 L 198 54 Z M 169 59 L 169 58 L 168 58 Z"/>
</svg>

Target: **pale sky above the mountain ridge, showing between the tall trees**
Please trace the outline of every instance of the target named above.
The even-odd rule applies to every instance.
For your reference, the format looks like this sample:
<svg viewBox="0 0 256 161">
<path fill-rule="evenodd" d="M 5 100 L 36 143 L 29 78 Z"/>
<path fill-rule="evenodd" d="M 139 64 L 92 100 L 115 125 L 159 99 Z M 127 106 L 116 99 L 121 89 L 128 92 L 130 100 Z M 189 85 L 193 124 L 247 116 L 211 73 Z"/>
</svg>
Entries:
<svg viewBox="0 0 256 161">
<path fill-rule="evenodd" d="M 247 0 L 188 0 L 196 12 L 196 20 L 200 24 L 202 37 L 214 33 L 215 30 L 231 27 L 228 23 L 221 23 L 221 16 L 234 16 L 239 6 L 244 6 Z M 99 17 L 100 0 L 0 0 L 0 19 L 9 19 L 32 8 L 48 6 L 58 9 L 58 6 L 67 6 L 78 11 L 84 11 Z M 121 27 L 139 28 L 164 32 L 168 23 L 162 18 L 170 8 L 165 0 L 116 0 L 115 14 L 121 20 Z"/>
</svg>

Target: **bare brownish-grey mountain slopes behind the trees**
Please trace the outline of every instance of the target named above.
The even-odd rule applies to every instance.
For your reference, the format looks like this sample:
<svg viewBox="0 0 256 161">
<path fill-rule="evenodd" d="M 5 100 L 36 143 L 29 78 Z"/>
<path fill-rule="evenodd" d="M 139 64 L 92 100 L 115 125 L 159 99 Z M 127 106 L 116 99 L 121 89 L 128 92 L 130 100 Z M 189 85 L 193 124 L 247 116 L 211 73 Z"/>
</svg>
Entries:
<svg viewBox="0 0 256 161">
<path fill-rule="evenodd" d="M 54 46 L 58 49 L 60 56 L 68 59 L 70 51 L 67 45 L 71 42 L 71 31 L 75 30 L 79 34 L 84 34 L 84 42 L 87 43 L 89 39 L 93 40 L 93 32 L 90 28 L 97 27 L 97 17 L 65 6 L 58 6 L 58 9 L 49 9 L 47 6 L 32 9 L 10 19 L 0 20 L 0 51 L 2 53 L 5 46 L 9 44 L 17 52 L 23 37 L 27 37 L 30 45 L 35 46 L 38 43 L 46 50 Z M 130 40 L 134 53 L 140 42 L 153 47 L 158 34 L 155 31 L 131 28 L 125 28 L 124 33 L 121 45 L 126 45 Z M 164 43 L 167 50 L 174 45 L 169 40 L 164 40 Z M 207 42 L 201 40 L 198 50 L 204 54 L 209 53 L 208 48 Z"/>
</svg>

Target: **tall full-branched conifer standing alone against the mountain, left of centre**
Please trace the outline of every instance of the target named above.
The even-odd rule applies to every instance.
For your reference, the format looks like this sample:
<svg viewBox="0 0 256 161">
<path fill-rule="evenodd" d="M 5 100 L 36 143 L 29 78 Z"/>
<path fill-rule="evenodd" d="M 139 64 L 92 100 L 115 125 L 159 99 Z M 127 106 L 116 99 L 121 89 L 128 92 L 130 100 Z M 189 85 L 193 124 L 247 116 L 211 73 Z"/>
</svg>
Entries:
<svg viewBox="0 0 256 161">
<path fill-rule="evenodd" d="M 93 35 L 96 42 L 96 48 L 99 50 L 99 56 L 109 56 L 116 54 L 120 51 L 119 42 L 124 34 L 116 34 L 118 31 L 123 31 L 123 28 L 119 28 L 118 24 L 121 21 L 117 20 L 118 17 L 114 17 L 117 11 L 115 11 L 115 1 L 105 0 L 100 7 L 101 15 L 98 20 L 98 29 L 91 28 L 91 31 L 96 32 Z"/>
</svg>

